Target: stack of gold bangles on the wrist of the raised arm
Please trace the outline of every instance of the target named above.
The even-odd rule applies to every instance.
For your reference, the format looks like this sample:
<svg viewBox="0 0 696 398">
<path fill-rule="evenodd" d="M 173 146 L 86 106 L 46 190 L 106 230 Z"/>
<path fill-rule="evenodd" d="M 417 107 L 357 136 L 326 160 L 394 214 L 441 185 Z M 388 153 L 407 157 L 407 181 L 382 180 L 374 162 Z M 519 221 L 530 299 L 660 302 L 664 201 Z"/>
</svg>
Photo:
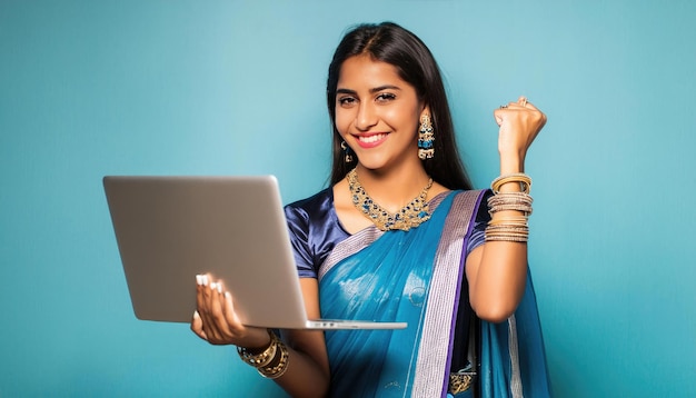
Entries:
<svg viewBox="0 0 696 398">
<path fill-rule="evenodd" d="M 519 192 L 500 192 L 506 183 L 519 183 Z M 486 227 L 486 241 L 527 242 L 529 225 L 527 219 L 531 215 L 531 178 L 525 173 L 504 175 L 496 178 L 490 185 L 494 196 L 488 198 L 490 221 Z M 514 210 L 521 215 L 498 215 L 499 211 Z"/>
</svg>

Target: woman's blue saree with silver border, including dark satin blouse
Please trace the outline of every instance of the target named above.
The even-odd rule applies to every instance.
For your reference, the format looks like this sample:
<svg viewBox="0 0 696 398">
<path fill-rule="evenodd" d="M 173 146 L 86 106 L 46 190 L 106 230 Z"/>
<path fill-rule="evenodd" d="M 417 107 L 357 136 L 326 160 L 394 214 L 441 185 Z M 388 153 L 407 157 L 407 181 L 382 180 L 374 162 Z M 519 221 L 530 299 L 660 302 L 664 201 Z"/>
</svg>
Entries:
<svg viewBox="0 0 696 398">
<path fill-rule="evenodd" d="M 507 322 L 479 321 L 468 305 L 464 266 L 484 196 L 440 195 L 417 228 L 352 236 L 338 223 L 330 190 L 286 209 L 300 276 L 319 279 L 322 318 L 408 322 L 327 331 L 331 396 L 453 396 L 451 374 L 464 370 L 478 371 L 478 381 L 456 397 L 549 396 L 530 280 Z"/>
</svg>

